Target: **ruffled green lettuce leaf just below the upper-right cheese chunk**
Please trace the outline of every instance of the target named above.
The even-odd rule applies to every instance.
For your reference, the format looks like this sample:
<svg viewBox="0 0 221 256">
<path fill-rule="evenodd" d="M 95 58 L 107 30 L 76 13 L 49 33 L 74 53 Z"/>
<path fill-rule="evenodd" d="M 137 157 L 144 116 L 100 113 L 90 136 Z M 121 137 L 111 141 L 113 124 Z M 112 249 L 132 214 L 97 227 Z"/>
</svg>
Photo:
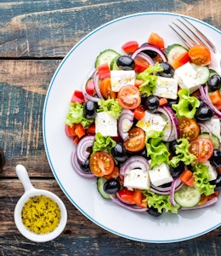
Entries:
<svg viewBox="0 0 221 256">
<path fill-rule="evenodd" d="M 196 108 L 200 107 L 200 101 L 196 97 L 190 96 L 190 90 L 186 88 L 178 90 L 178 96 L 178 103 L 172 105 L 178 119 L 182 117 L 193 119 Z"/>
</svg>

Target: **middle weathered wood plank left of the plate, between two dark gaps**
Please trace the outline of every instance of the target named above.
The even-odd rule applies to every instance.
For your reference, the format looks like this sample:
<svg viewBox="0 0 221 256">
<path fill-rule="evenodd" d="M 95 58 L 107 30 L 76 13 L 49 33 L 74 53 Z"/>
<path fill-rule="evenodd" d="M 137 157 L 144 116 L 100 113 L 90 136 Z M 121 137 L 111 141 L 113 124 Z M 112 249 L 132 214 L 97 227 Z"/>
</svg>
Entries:
<svg viewBox="0 0 221 256">
<path fill-rule="evenodd" d="M 6 157 L 0 175 L 14 177 L 14 166 L 23 163 L 31 176 L 52 177 L 42 139 L 42 109 L 59 62 L 0 61 L 0 141 Z"/>
</svg>

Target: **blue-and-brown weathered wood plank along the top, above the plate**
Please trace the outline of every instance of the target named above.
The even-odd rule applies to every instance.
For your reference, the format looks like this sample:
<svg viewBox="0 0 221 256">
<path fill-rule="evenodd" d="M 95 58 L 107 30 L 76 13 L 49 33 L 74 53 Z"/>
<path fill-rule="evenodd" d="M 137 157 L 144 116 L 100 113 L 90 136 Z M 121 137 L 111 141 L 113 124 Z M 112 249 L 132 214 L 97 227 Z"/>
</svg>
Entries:
<svg viewBox="0 0 221 256">
<path fill-rule="evenodd" d="M 96 27 L 138 12 L 169 11 L 197 19 L 203 14 L 204 21 L 220 29 L 218 6 L 219 0 L 0 3 L 0 57 L 62 57 Z"/>
</svg>

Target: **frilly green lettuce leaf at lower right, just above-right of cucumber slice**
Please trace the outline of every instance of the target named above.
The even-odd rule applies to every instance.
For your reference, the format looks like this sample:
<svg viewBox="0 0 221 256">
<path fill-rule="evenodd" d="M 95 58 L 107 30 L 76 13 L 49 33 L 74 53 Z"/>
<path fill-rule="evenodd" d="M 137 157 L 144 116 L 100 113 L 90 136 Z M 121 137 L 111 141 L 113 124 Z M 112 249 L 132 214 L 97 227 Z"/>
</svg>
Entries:
<svg viewBox="0 0 221 256">
<path fill-rule="evenodd" d="M 193 166 L 193 176 L 195 177 L 195 185 L 199 188 L 201 194 L 212 195 L 216 185 L 209 183 L 208 167 L 202 163 L 196 163 Z"/>
</svg>

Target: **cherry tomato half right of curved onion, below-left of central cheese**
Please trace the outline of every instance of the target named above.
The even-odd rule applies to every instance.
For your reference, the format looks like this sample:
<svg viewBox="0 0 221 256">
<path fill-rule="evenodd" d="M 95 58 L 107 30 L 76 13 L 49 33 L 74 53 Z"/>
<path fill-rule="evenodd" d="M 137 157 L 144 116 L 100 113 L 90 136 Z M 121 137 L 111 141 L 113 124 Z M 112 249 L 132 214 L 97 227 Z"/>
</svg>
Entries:
<svg viewBox="0 0 221 256">
<path fill-rule="evenodd" d="M 124 142 L 124 147 L 131 152 L 138 152 L 142 150 L 145 146 L 145 133 L 139 127 L 133 127 L 128 131 L 129 137 L 126 142 Z"/>
</svg>

